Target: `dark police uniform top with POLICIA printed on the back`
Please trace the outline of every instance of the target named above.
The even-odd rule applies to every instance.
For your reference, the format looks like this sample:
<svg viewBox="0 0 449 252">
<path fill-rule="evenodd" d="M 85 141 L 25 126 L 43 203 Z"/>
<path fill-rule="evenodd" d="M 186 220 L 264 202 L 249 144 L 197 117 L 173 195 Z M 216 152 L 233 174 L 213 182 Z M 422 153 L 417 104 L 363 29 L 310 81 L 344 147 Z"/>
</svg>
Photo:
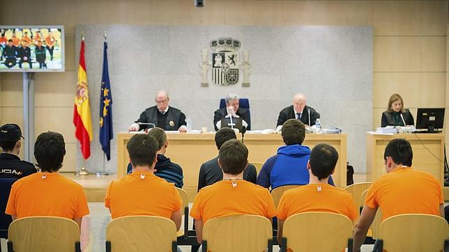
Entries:
<svg viewBox="0 0 449 252">
<path fill-rule="evenodd" d="M 23 178 L 36 173 L 33 164 L 9 153 L 0 154 L 0 178 Z"/>
</svg>

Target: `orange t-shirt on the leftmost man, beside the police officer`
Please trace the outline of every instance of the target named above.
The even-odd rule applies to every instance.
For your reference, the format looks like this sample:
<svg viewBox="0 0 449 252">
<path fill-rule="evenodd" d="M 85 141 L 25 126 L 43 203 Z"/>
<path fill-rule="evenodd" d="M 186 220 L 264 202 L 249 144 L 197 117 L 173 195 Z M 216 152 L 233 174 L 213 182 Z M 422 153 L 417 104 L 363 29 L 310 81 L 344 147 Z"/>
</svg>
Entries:
<svg viewBox="0 0 449 252">
<path fill-rule="evenodd" d="M 6 214 L 59 216 L 67 219 L 89 214 L 82 186 L 59 173 L 34 173 L 17 180 L 9 195 Z"/>
</svg>

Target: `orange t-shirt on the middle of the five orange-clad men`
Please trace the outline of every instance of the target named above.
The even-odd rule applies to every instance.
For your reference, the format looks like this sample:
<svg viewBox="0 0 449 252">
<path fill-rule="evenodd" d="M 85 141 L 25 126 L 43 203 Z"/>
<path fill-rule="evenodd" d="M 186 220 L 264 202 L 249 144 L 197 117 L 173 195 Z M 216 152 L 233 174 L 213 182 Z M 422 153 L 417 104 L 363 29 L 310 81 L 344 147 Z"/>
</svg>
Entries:
<svg viewBox="0 0 449 252">
<path fill-rule="evenodd" d="M 199 190 L 190 216 L 208 219 L 238 214 L 254 214 L 268 219 L 276 215 L 270 192 L 245 180 L 222 180 Z"/>
</svg>

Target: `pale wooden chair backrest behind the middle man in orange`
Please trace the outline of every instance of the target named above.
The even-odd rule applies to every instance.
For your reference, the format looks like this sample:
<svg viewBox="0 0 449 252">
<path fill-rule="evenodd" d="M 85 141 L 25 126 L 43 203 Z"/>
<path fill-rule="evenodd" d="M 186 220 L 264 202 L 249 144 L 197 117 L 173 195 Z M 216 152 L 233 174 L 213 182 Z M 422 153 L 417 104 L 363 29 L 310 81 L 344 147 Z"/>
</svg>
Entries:
<svg viewBox="0 0 449 252">
<path fill-rule="evenodd" d="M 258 215 L 213 218 L 203 227 L 208 251 L 265 251 L 273 238 L 271 221 Z"/>
</svg>

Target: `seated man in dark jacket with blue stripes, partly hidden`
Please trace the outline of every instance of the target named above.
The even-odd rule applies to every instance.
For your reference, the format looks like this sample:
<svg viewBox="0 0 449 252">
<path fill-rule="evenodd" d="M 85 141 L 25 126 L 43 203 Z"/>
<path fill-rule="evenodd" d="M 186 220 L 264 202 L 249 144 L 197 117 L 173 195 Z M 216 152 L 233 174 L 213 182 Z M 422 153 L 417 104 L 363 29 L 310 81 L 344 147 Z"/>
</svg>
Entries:
<svg viewBox="0 0 449 252">
<path fill-rule="evenodd" d="M 175 187 L 183 188 L 183 168 L 165 157 L 168 147 L 167 134 L 158 127 L 151 129 L 148 134 L 158 141 L 159 149 L 154 175 L 167 180 L 167 182 L 174 183 Z M 128 173 L 131 173 L 131 171 L 132 165 L 128 164 Z"/>
</svg>

